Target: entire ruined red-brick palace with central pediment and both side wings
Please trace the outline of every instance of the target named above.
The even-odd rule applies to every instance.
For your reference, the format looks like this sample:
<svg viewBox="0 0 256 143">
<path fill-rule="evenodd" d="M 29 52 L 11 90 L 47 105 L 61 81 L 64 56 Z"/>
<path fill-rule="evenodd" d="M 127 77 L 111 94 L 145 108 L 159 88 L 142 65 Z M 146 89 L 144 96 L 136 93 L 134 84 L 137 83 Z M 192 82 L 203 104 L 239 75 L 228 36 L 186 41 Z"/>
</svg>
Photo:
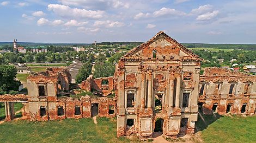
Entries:
<svg viewBox="0 0 256 143">
<path fill-rule="evenodd" d="M 90 75 L 74 85 L 67 69 L 48 68 L 28 76 L 28 95 L 0 95 L 0 101 L 8 121 L 14 102 L 23 103 L 23 119 L 32 121 L 117 116 L 118 137 L 192 134 L 198 107 L 204 114 L 254 115 L 256 76 L 221 68 L 200 76 L 202 60 L 161 31 L 121 57 L 114 76 Z"/>
</svg>

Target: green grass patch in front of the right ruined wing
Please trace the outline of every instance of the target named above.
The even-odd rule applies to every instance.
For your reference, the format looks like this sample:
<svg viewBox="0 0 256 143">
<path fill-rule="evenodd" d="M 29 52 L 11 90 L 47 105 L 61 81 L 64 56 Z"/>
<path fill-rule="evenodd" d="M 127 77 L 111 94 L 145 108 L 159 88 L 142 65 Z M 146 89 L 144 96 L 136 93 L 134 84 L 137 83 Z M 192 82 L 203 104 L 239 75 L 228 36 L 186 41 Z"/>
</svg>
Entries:
<svg viewBox="0 0 256 143">
<path fill-rule="evenodd" d="M 256 116 L 218 119 L 202 131 L 205 142 L 256 142 Z"/>
</svg>

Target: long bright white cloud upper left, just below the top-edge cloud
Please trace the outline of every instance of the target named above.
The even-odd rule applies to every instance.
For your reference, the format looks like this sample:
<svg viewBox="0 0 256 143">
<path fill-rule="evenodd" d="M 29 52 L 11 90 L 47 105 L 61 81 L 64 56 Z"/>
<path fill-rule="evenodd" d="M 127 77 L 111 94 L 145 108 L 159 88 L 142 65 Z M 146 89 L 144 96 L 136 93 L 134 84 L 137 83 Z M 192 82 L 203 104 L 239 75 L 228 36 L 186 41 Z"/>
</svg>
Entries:
<svg viewBox="0 0 256 143">
<path fill-rule="evenodd" d="M 86 9 L 78 9 L 78 8 L 70 8 L 66 5 L 60 4 L 49 4 L 48 10 L 52 10 L 54 13 L 61 17 L 76 17 L 76 18 L 102 18 L 105 15 L 105 11 L 101 10 L 86 10 Z"/>
</svg>

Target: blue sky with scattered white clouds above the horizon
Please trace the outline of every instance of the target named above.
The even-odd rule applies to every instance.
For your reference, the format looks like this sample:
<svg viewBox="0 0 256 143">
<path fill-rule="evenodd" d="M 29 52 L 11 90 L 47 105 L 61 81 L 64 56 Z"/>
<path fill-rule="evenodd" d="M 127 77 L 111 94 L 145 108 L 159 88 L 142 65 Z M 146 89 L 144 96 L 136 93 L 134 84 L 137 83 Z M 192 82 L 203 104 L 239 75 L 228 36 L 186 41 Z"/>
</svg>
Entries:
<svg viewBox="0 0 256 143">
<path fill-rule="evenodd" d="M 256 43 L 255 0 L 0 0 L 0 41 Z"/>
</svg>

